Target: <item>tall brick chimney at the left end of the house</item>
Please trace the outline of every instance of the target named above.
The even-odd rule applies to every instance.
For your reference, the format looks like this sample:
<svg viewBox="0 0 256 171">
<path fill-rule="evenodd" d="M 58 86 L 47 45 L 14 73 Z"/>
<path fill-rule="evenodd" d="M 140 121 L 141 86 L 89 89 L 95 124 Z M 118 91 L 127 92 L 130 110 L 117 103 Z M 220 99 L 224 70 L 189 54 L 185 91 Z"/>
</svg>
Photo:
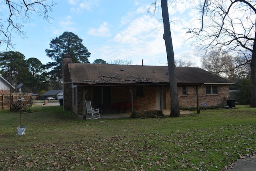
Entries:
<svg viewBox="0 0 256 171">
<path fill-rule="evenodd" d="M 63 110 L 71 110 L 72 84 L 68 65 L 71 64 L 70 54 L 62 54 L 62 78 L 63 78 Z"/>
</svg>

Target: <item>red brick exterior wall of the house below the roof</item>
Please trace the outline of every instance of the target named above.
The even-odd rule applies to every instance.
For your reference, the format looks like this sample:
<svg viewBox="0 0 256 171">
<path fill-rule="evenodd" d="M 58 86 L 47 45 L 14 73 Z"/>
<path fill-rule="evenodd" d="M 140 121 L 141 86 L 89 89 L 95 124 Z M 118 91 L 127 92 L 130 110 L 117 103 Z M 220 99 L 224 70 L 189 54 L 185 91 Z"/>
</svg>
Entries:
<svg viewBox="0 0 256 171">
<path fill-rule="evenodd" d="M 196 107 L 196 91 L 193 87 L 187 87 L 188 95 L 182 95 L 182 87 L 178 87 L 180 108 L 195 108 Z M 170 109 L 170 88 L 166 87 L 166 106 Z M 228 86 L 218 86 L 218 95 L 206 95 L 206 87 L 198 87 L 200 107 L 226 105 L 226 100 L 229 99 Z M 86 100 L 91 100 L 93 105 L 93 88 L 92 87 L 77 87 L 77 104 L 74 104 L 76 113 L 83 113 L 83 93 Z M 130 102 L 131 93 L 127 87 L 112 87 L 112 103 L 113 102 Z M 138 111 L 154 111 L 156 110 L 156 87 L 144 87 L 144 96 L 136 97 L 134 92 L 134 102 L 138 104 Z M 112 106 L 102 106 L 102 113 L 111 112 Z"/>
</svg>

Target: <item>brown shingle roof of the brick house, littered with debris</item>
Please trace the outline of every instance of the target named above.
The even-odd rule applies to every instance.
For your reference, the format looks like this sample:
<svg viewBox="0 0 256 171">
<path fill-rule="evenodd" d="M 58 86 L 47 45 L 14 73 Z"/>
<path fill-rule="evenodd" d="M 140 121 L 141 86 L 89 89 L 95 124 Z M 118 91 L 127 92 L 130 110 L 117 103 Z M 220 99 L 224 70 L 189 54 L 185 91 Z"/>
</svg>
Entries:
<svg viewBox="0 0 256 171">
<path fill-rule="evenodd" d="M 113 64 L 68 64 L 76 84 L 169 83 L 167 66 Z M 178 84 L 229 84 L 229 81 L 201 68 L 176 67 Z"/>
</svg>

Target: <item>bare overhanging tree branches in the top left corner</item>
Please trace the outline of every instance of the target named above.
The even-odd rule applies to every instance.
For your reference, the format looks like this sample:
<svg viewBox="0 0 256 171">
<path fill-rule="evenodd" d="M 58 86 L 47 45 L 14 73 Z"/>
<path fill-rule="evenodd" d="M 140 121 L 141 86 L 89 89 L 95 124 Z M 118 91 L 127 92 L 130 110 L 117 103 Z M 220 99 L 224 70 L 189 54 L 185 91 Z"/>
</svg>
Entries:
<svg viewBox="0 0 256 171">
<path fill-rule="evenodd" d="M 6 6 L 8 13 L 0 12 L 0 46 L 6 44 L 6 50 L 13 47 L 13 34 L 19 35 L 21 38 L 26 37 L 26 33 L 22 30 L 22 23 L 31 22 L 32 14 L 42 16 L 44 20 L 50 21 L 52 18 L 48 16 L 53 11 L 56 3 L 48 4 L 47 0 L 3 0 L 1 6 Z M 18 22 L 16 22 L 18 20 Z"/>
</svg>

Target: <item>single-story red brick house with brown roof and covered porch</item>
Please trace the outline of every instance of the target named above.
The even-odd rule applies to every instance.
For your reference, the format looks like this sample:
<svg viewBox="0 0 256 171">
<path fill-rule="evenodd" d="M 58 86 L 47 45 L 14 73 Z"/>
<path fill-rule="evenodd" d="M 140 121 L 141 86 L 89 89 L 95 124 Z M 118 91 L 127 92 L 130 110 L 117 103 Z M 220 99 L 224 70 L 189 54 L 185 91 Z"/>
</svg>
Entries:
<svg viewBox="0 0 256 171">
<path fill-rule="evenodd" d="M 102 113 L 134 113 L 170 109 L 167 66 L 71 63 L 63 55 L 64 109 L 85 115 L 85 100 Z M 201 68 L 176 67 L 180 109 L 226 105 L 228 80 Z M 196 91 L 198 90 L 198 91 Z M 134 104 L 134 105 L 131 105 Z M 135 112 L 134 112 L 135 111 Z"/>
</svg>

